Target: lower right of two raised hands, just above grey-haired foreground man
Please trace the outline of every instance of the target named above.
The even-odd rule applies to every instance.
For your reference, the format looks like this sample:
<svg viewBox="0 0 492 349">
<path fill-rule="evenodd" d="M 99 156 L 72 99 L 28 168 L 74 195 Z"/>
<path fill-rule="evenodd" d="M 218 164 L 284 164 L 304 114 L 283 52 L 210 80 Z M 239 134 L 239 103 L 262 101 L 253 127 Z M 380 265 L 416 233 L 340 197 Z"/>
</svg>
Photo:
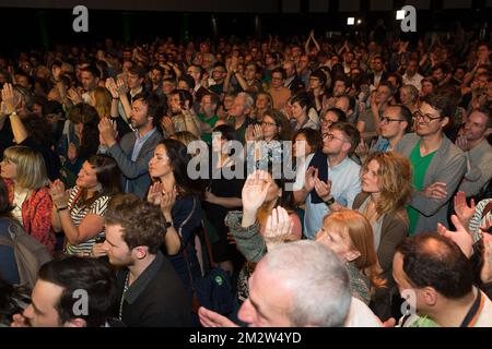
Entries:
<svg viewBox="0 0 492 349">
<path fill-rule="evenodd" d="M 285 208 L 281 206 L 273 208 L 267 218 L 267 225 L 263 232 L 263 239 L 267 243 L 268 251 L 271 251 L 280 243 L 289 240 L 293 227 L 294 222 Z"/>
</svg>

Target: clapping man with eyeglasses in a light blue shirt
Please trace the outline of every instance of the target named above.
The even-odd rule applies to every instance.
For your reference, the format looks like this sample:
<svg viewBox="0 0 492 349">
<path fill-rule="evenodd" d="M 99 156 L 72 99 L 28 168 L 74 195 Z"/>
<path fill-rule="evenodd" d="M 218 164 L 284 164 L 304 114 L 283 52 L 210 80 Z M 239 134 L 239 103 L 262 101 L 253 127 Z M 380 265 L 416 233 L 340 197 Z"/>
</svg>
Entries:
<svg viewBox="0 0 492 349">
<path fill-rule="evenodd" d="M 294 191 L 296 202 L 306 204 L 306 238 L 314 239 L 327 214 L 352 207 L 361 192 L 361 167 L 349 157 L 360 139 L 359 131 L 349 122 L 336 122 L 323 134 L 323 151 L 313 157 L 304 188 Z"/>
</svg>

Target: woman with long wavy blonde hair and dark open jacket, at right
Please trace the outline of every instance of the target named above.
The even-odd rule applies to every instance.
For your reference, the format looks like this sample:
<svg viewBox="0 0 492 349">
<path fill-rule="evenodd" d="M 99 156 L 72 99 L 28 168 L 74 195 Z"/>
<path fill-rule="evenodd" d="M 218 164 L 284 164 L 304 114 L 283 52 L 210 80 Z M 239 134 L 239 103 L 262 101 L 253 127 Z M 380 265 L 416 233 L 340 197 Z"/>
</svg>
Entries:
<svg viewBox="0 0 492 349">
<path fill-rule="evenodd" d="M 410 161 L 394 152 L 370 154 L 361 168 L 362 192 L 355 196 L 352 208 L 362 213 L 374 231 L 383 277 L 388 288 L 376 292 L 375 313 L 389 317 L 390 297 L 396 289 L 393 280 L 393 257 L 396 246 L 409 230 L 406 206 L 412 192 Z"/>
</svg>

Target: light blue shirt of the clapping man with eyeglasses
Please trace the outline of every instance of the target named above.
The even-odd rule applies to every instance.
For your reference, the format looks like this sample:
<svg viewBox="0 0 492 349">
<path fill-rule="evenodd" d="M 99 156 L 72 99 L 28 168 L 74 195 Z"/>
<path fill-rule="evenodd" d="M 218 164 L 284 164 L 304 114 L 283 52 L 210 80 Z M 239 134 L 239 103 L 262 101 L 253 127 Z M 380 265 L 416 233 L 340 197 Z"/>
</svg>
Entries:
<svg viewBox="0 0 492 349">
<path fill-rule="evenodd" d="M 328 179 L 331 181 L 331 195 L 337 203 L 345 207 L 352 207 L 355 196 L 361 192 L 361 167 L 347 157 L 335 167 L 328 161 Z M 314 190 L 314 189 L 313 189 Z M 316 232 L 323 226 L 323 218 L 330 213 L 325 203 L 312 203 L 312 193 L 306 197 L 304 215 L 304 234 L 307 239 L 314 239 Z"/>
</svg>

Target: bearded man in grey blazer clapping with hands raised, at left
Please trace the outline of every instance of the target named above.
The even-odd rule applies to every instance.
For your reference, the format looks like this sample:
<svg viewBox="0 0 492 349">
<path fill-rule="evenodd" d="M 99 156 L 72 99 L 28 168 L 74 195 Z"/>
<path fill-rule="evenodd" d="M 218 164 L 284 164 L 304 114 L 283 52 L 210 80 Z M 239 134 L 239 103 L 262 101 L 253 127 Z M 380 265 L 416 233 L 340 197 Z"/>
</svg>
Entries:
<svg viewBox="0 0 492 349">
<path fill-rule="evenodd" d="M 127 133 L 118 142 L 109 119 L 99 122 L 99 153 L 112 156 L 124 174 L 124 191 L 144 197 L 151 179 L 149 161 L 154 148 L 162 140 L 154 120 L 163 113 L 159 96 L 139 94 L 133 97 L 130 122 L 134 132 Z"/>
</svg>

